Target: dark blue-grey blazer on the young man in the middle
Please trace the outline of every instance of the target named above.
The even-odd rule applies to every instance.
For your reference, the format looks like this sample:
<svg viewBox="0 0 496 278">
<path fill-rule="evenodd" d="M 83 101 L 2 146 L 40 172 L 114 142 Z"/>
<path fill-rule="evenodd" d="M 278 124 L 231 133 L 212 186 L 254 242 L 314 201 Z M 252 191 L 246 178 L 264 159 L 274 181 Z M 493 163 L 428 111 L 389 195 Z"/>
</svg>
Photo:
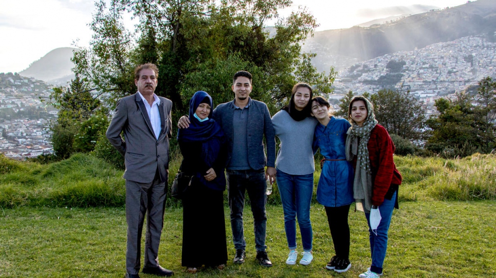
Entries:
<svg viewBox="0 0 496 278">
<path fill-rule="evenodd" d="M 220 124 L 227 137 L 227 164 L 233 155 L 234 138 L 234 100 L 219 104 L 213 112 L 212 117 Z M 264 166 L 275 167 L 276 161 L 276 140 L 274 127 L 272 126 L 271 114 L 267 105 L 261 101 L 251 99 L 248 109 L 248 163 L 254 170 Z M 265 157 L 263 137 L 267 144 L 267 157 Z"/>
</svg>

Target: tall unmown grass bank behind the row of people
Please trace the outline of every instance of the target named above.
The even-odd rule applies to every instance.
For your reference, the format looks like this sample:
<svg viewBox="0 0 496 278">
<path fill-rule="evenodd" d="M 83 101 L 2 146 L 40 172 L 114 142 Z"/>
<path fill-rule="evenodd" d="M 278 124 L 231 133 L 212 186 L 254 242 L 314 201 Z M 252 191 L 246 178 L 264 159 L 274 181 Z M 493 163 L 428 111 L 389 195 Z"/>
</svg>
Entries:
<svg viewBox="0 0 496 278">
<path fill-rule="evenodd" d="M 173 155 L 170 173 L 177 173 L 180 159 L 178 153 Z M 400 201 L 496 200 L 495 155 L 460 159 L 395 156 L 395 163 L 403 175 Z M 315 184 L 320 175 L 316 164 Z M 125 203 L 122 175 L 121 170 L 89 154 L 47 165 L 0 156 L 0 207 L 120 207 Z M 173 178 L 169 175 L 169 184 Z M 277 186 L 268 202 L 280 204 Z M 167 205 L 178 206 L 178 201 L 168 197 Z"/>
</svg>

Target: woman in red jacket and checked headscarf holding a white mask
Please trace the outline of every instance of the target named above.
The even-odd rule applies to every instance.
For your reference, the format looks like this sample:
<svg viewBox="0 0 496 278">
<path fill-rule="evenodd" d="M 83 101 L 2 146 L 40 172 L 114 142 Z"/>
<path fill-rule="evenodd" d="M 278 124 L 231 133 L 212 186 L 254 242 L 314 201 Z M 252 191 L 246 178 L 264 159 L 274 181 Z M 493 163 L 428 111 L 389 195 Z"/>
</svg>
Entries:
<svg viewBox="0 0 496 278">
<path fill-rule="evenodd" d="M 383 273 L 389 224 L 393 209 L 398 208 L 402 176 L 394 165 L 393 141 L 384 126 L 377 124 L 372 103 L 363 96 L 354 97 L 348 107 L 348 119 L 352 126 L 347 132 L 346 158 L 355 167 L 353 197 L 356 208 L 365 211 L 372 257 L 370 268 L 359 277 L 377 278 Z M 371 215 L 377 212 L 380 222 L 376 228 L 371 227 Z"/>
</svg>

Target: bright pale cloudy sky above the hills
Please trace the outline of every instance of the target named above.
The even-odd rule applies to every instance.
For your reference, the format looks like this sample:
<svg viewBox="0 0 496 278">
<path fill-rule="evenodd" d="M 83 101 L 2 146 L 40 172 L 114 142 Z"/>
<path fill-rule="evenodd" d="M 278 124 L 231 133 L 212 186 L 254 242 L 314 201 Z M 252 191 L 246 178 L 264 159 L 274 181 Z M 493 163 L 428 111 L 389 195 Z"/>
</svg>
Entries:
<svg viewBox="0 0 496 278">
<path fill-rule="evenodd" d="M 0 72 L 20 72 L 53 49 L 88 47 L 94 2 L 91 0 L 0 0 Z M 293 0 L 288 16 L 307 7 L 320 25 L 316 31 L 350 28 L 376 18 L 401 14 L 401 7 L 454 7 L 466 0 Z M 133 23 L 126 16 L 126 26 Z"/>
</svg>

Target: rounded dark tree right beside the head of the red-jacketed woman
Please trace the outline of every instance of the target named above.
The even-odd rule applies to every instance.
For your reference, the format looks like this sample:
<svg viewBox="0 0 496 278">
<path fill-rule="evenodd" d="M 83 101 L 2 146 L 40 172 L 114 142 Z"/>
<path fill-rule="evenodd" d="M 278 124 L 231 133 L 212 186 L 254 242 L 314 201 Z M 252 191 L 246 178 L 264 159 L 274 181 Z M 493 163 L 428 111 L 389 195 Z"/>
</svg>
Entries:
<svg viewBox="0 0 496 278">
<path fill-rule="evenodd" d="M 379 90 L 370 96 L 375 118 L 390 134 L 411 141 L 422 138 L 426 112 L 410 92 Z"/>
</svg>

